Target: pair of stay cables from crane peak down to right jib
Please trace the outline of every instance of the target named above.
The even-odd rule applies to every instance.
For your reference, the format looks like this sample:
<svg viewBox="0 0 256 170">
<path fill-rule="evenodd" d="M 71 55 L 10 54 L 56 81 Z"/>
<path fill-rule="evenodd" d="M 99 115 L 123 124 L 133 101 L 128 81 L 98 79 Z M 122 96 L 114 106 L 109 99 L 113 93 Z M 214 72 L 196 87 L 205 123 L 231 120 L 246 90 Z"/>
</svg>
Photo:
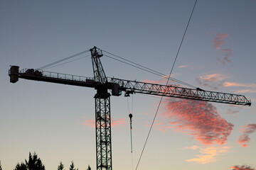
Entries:
<svg viewBox="0 0 256 170">
<path fill-rule="evenodd" d="M 103 51 L 103 50 L 102 50 Z M 107 52 L 107 53 L 109 53 L 109 52 Z M 109 58 L 111 58 L 111 59 L 113 59 L 113 60 L 117 60 L 117 61 L 119 61 L 119 62 L 122 62 L 122 63 L 124 63 L 124 64 L 128 64 L 128 65 L 130 65 L 130 66 L 132 66 L 132 67 L 136 67 L 137 69 L 142 69 L 142 70 L 144 70 L 144 71 L 146 71 L 146 72 L 149 72 L 149 73 L 151 73 L 151 74 L 155 74 L 155 75 L 157 75 L 157 76 L 159 76 L 159 77 L 164 77 L 164 78 L 166 78 L 166 79 L 168 79 L 168 76 L 167 75 L 165 75 L 165 74 L 162 74 L 162 73 L 160 73 L 160 72 L 156 72 L 154 69 L 149 69 L 149 68 L 147 68 L 147 67 L 144 67 L 144 66 L 142 66 L 142 65 L 140 65 L 140 64 L 137 64 L 137 65 L 139 65 L 139 66 L 136 66 L 136 65 L 134 65 L 134 64 L 136 64 L 136 63 L 134 63 L 134 62 L 132 62 L 132 63 L 134 63 L 134 64 L 130 64 L 130 63 L 128 63 L 128 62 L 123 62 L 122 60 L 118 60 L 118 59 L 116 59 L 116 58 L 114 58 L 114 57 L 110 57 L 109 55 L 104 55 L 105 57 L 109 57 Z M 116 56 L 116 55 L 114 55 L 114 56 Z M 121 57 L 122 58 L 122 57 Z M 125 59 L 124 59 L 125 60 Z M 127 61 L 129 61 L 129 60 L 127 60 Z M 129 61 L 129 62 L 131 62 L 131 61 Z M 141 67 L 143 67 L 143 68 L 141 68 Z M 172 77 L 170 77 L 169 79 L 171 79 L 171 80 L 173 80 L 173 81 L 176 81 L 176 82 L 178 82 L 178 83 L 180 83 L 180 84 L 183 84 L 183 85 L 185 85 L 185 86 L 189 86 L 189 87 L 191 87 L 191 88 L 193 88 L 193 89 L 196 89 L 196 86 L 193 86 L 193 85 L 191 85 L 191 84 L 187 84 L 187 83 L 185 83 L 185 82 L 183 82 L 183 81 L 180 81 L 180 80 L 178 80 L 178 79 L 174 79 L 174 78 L 172 78 Z"/>
</svg>

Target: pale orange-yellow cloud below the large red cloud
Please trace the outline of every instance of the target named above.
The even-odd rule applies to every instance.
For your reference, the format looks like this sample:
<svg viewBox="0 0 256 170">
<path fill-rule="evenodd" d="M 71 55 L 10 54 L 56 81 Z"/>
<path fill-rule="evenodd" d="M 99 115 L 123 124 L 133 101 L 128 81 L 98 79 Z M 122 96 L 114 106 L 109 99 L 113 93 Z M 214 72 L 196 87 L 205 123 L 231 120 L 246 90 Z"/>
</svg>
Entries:
<svg viewBox="0 0 256 170">
<path fill-rule="evenodd" d="M 200 149 L 200 154 L 196 158 L 186 159 L 186 162 L 196 162 L 197 164 L 208 164 L 215 162 L 219 154 L 228 152 L 229 147 L 206 147 Z"/>
</svg>

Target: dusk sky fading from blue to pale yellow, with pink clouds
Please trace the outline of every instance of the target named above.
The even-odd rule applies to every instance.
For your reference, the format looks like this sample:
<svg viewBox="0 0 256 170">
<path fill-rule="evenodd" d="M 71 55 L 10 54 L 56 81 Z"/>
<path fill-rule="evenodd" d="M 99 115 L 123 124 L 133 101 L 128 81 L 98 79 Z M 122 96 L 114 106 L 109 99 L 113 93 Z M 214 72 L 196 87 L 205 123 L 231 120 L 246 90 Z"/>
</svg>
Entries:
<svg viewBox="0 0 256 170">
<path fill-rule="evenodd" d="M 25 79 L 11 84 L 10 65 L 36 69 L 97 46 L 169 74 L 194 2 L 0 0 L 2 168 L 14 169 L 29 152 L 46 169 L 60 162 L 68 169 L 71 161 L 79 169 L 96 166 L 95 89 Z M 137 169 L 256 169 L 255 6 L 198 0 L 171 74 L 204 90 L 245 95 L 252 106 L 164 98 Z M 89 55 L 46 71 L 93 77 Z M 109 57 L 101 61 L 107 77 L 166 84 Z M 159 101 L 111 97 L 113 169 L 135 169 Z"/>
</svg>

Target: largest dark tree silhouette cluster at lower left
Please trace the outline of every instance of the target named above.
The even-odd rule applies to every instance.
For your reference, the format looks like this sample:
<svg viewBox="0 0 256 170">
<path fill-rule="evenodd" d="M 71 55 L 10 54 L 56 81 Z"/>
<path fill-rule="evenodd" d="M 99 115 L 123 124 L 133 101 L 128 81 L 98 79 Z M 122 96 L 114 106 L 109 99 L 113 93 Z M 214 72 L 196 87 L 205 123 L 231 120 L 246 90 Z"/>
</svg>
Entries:
<svg viewBox="0 0 256 170">
<path fill-rule="evenodd" d="M 25 163 L 21 162 L 21 164 L 17 164 L 14 170 L 46 170 L 45 166 L 42 164 L 40 158 L 36 152 L 31 154 L 29 152 L 28 161 L 25 159 Z"/>
</svg>

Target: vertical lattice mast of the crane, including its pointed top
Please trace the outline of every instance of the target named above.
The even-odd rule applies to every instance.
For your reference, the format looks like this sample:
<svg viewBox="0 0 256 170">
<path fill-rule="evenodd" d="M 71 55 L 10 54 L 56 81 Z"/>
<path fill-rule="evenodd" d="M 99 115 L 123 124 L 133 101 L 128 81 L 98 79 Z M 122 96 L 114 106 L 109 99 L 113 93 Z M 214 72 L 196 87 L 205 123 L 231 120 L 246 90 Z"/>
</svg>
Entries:
<svg viewBox="0 0 256 170">
<path fill-rule="evenodd" d="M 97 170 L 112 169 L 110 93 L 107 91 L 107 77 L 100 62 L 102 51 L 97 47 L 91 50 L 95 87 L 95 128 Z"/>
</svg>

